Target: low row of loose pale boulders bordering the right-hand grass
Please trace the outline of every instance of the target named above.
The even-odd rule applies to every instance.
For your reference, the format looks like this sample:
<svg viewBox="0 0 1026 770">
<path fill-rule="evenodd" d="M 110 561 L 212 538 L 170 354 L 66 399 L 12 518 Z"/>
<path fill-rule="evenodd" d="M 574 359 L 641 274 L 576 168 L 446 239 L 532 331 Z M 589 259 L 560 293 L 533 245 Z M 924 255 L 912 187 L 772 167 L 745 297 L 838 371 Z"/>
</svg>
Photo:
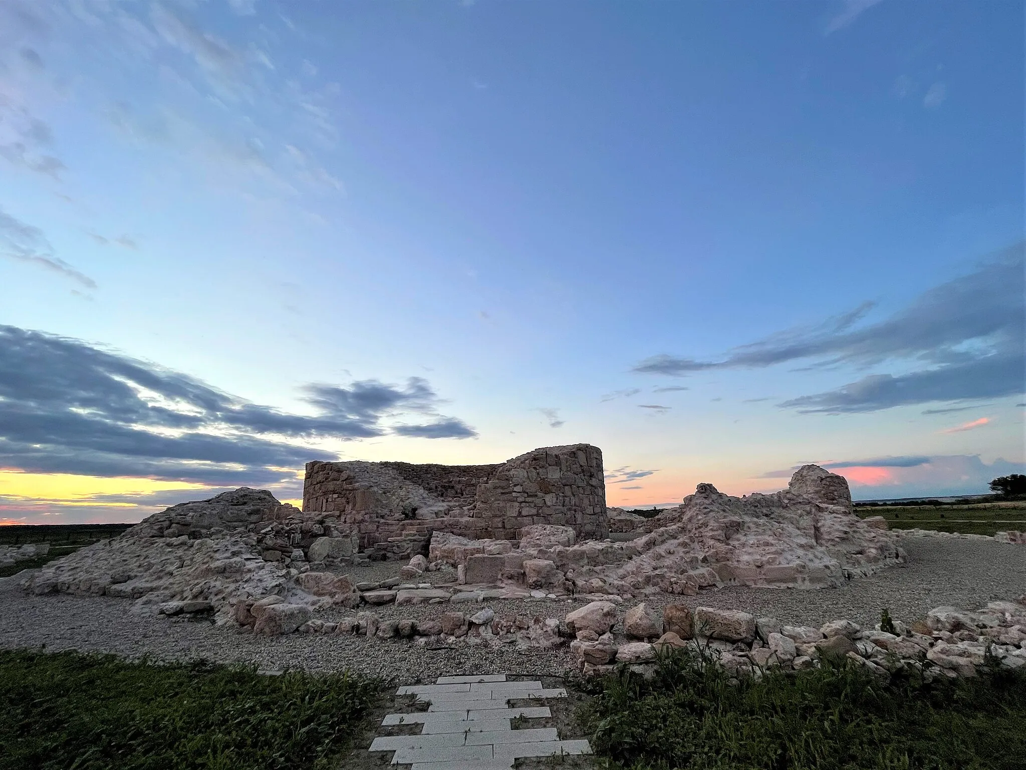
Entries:
<svg viewBox="0 0 1026 770">
<path fill-rule="evenodd" d="M 749 675 L 771 666 L 810 668 L 827 658 L 854 661 L 882 678 L 907 667 L 926 676 L 974 677 L 985 662 L 1026 665 L 1026 596 L 990 602 L 977 612 L 938 607 L 910 625 L 891 621 L 886 628 L 877 623 L 872 629 L 849 620 L 819 628 L 790 626 L 747 612 L 710 607 L 693 612 L 683 605 L 667 606 L 660 624 L 639 605 L 628 611 L 618 641 L 616 620 L 613 605 L 604 602 L 566 616 L 565 624 L 577 628 L 570 650 L 584 675 L 609 673 L 619 663 L 648 675 L 660 651 L 687 647 L 733 672 Z"/>
</svg>

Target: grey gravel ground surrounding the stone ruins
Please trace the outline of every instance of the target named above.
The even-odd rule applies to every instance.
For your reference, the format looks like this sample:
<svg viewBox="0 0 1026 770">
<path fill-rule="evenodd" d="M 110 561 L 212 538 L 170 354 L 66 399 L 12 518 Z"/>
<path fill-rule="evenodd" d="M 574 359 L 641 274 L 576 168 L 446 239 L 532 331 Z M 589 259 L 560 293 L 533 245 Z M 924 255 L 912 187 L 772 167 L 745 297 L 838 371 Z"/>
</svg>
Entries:
<svg viewBox="0 0 1026 770">
<path fill-rule="evenodd" d="M 994 599 L 1026 593 L 1026 547 L 987 541 L 941 538 L 902 538 L 909 564 L 842 588 L 787 590 L 727 587 L 698 596 L 656 594 L 649 607 L 683 603 L 740 609 L 772 615 L 784 623 L 820 625 L 847 618 L 863 625 L 879 619 L 889 608 L 892 617 L 914 620 L 939 605 L 976 609 Z M 401 564 L 377 563 L 352 572 L 354 581 L 383 580 L 398 574 Z M 429 573 L 432 574 L 432 573 Z M 497 613 L 562 617 L 580 601 L 491 602 Z M 631 606 L 625 602 L 624 607 Z M 453 673 L 507 671 L 558 676 L 570 664 L 564 647 L 554 651 L 517 652 L 463 644 L 455 649 L 430 649 L 403 641 L 367 640 L 337 634 L 293 633 L 278 639 L 218 628 L 205 621 L 134 615 L 127 600 L 67 594 L 35 596 L 21 591 L 12 580 L 0 580 L 0 647 L 39 647 L 114 652 L 159 658 L 204 657 L 218 661 L 255 663 L 263 669 L 303 667 L 394 678 L 399 683 L 433 681 Z M 436 616 L 441 611 L 476 611 L 480 605 L 420 605 L 371 608 L 383 619 Z M 332 609 L 318 617 L 338 619 L 353 611 Z"/>
</svg>

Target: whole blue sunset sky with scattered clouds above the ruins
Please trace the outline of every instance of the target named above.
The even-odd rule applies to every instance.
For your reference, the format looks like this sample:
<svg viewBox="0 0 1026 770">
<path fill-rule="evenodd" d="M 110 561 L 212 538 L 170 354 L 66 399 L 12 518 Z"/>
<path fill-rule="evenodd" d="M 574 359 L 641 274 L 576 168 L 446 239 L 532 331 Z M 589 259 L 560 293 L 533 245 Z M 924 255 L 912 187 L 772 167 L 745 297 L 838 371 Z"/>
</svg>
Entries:
<svg viewBox="0 0 1026 770">
<path fill-rule="evenodd" d="M 1024 6 L 0 2 L 0 522 L 602 449 L 1026 470 Z"/>
</svg>

